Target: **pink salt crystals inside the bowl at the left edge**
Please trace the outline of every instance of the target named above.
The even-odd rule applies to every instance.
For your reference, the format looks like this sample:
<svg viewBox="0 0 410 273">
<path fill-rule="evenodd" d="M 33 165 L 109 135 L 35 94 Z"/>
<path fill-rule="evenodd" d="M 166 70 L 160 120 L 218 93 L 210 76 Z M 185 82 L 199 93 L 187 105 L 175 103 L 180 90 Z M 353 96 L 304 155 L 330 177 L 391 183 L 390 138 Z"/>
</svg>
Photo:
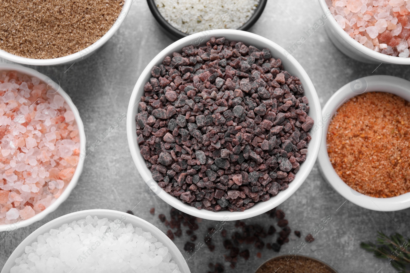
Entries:
<svg viewBox="0 0 410 273">
<path fill-rule="evenodd" d="M 46 94 L 46 84 L 38 78 L 30 82 L 27 76 L 16 73 L 21 81 L 18 85 L 15 76 L 7 77 L 8 73 L 16 72 L 0 74 L 3 81 L 0 88 L 4 89 L 0 95 L 0 126 L 5 126 L 8 132 L 0 133 L 0 224 L 14 223 L 19 215 L 24 219 L 33 217 L 58 198 L 63 191 L 59 190 L 54 196 L 44 194 L 48 182 L 57 179 L 57 188 L 64 188 L 64 183 L 70 182 L 80 148 L 78 127 L 64 98 Z M 39 97 L 48 99 L 31 107 Z M 9 127 L 10 117 L 13 117 L 13 127 Z M 55 144 L 66 157 L 55 149 Z M 62 174 L 65 181 L 60 180 L 62 171 L 53 168 L 56 165 L 65 170 Z M 15 172 L 19 172 L 18 175 Z"/>
</svg>

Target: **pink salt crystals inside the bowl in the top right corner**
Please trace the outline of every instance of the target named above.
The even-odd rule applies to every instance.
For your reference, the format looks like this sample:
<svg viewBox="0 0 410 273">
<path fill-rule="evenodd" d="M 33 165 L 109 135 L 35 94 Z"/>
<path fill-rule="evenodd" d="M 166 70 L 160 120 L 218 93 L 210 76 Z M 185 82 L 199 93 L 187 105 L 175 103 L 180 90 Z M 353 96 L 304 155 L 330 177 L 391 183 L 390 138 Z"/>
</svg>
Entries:
<svg viewBox="0 0 410 273">
<path fill-rule="evenodd" d="M 326 0 L 340 27 L 371 50 L 407 58 L 410 0 Z"/>
</svg>

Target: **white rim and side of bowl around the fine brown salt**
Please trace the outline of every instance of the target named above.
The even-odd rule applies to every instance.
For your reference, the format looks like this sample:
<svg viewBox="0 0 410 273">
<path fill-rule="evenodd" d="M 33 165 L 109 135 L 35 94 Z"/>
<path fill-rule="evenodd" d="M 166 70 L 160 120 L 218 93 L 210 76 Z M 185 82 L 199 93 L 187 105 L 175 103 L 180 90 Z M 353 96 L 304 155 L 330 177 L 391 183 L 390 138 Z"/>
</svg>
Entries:
<svg viewBox="0 0 410 273">
<path fill-rule="evenodd" d="M 22 63 L 25 65 L 61 65 L 66 63 L 74 63 L 86 59 L 91 54 L 96 52 L 98 48 L 104 45 L 109 40 L 109 38 L 111 38 L 114 35 L 114 33 L 123 23 L 125 16 L 127 16 L 128 14 L 128 11 L 130 11 L 131 5 L 132 0 L 125 0 L 120 15 L 118 16 L 117 20 L 114 22 L 112 27 L 107 31 L 107 33 L 104 34 L 103 37 L 99 38 L 95 43 L 93 43 L 89 47 L 84 48 L 79 52 L 75 52 L 74 54 L 54 59 L 30 59 L 11 54 L 4 50 L 0 50 L 0 58 L 4 58 L 15 63 Z"/>
</svg>

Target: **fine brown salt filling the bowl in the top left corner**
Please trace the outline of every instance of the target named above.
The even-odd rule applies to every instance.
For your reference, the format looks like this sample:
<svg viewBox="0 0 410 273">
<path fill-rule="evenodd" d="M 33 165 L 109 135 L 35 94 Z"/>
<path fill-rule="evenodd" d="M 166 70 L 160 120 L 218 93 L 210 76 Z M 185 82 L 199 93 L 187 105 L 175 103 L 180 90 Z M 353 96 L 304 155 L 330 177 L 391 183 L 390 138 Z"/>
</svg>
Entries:
<svg viewBox="0 0 410 273">
<path fill-rule="evenodd" d="M 20 0 L 0 5 L 0 49 L 32 59 L 67 56 L 112 27 L 124 0 Z"/>
</svg>

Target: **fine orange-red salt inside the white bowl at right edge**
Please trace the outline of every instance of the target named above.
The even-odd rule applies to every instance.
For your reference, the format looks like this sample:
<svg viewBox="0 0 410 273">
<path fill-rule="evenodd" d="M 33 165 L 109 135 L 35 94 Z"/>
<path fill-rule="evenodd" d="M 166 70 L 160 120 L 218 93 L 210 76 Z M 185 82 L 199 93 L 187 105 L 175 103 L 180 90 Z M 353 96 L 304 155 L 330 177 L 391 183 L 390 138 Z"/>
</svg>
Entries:
<svg viewBox="0 0 410 273">
<path fill-rule="evenodd" d="M 410 104 L 390 93 L 348 100 L 330 123 L 330 162 L 356 191 L 392 197 L 410 190 Z"/>
</svg>

